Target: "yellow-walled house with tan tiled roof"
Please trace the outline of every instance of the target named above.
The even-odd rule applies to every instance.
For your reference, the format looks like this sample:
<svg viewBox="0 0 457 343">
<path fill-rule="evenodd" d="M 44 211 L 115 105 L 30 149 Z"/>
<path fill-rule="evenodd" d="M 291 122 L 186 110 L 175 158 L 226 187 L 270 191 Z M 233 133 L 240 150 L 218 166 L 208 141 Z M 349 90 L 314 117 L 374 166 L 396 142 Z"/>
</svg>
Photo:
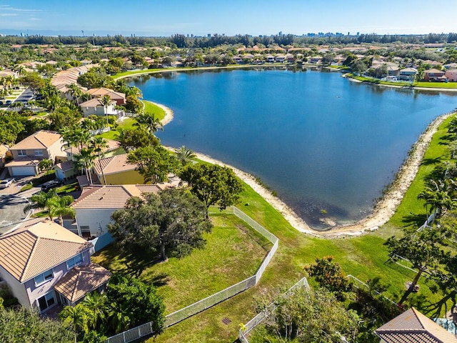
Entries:
<svg viewBox="0 0 457 343">
<path fill-rule="evenodd" d="M 127 163 L 128 154 L 121 154 L 94 162 L 94 174 L 100 184 L 143 184 L 136 164 Z M 95 180 L 94 180 L 95 182 Z"/>
</svg>

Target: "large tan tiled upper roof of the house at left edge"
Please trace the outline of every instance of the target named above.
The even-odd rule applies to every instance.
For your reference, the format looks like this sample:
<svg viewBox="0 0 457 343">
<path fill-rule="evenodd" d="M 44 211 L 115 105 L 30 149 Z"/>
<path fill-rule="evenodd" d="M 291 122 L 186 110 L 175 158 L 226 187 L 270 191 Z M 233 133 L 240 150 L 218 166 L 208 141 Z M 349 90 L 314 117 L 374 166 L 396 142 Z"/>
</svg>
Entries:
<svg viewBox="0 0 457 343">
<path fill-rule="evenodd" d="M 0 265 L 23 283 L 92 247 L 77 234 L 36 218 L 0 237 Z"/>
</svg>

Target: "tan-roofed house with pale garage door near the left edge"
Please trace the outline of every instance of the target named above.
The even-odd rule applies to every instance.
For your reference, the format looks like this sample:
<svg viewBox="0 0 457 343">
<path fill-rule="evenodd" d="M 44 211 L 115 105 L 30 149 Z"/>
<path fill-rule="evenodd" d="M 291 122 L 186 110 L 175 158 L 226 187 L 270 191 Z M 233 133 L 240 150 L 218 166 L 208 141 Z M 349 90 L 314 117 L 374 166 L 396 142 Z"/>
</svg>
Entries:
<svg viewBox="0 0 457 343">
<path fill-rule="evenodd" d="M 25 177 L 38 174 L 38 164 L 42 159 L 53 162 L 64 160 L 62 136 L 54 131 L 41 130 L 19 141 L 9 149 L 13 161 L 5 164 L 11 177 Z"/>
</svg>

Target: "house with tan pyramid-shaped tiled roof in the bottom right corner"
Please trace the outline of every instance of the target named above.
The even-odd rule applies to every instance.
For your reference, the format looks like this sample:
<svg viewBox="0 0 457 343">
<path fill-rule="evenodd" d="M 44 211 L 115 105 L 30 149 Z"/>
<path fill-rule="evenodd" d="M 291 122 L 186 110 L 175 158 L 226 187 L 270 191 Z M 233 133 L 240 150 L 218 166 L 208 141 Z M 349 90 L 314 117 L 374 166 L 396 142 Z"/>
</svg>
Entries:
<svg viewBox="0 0 457 343">
<path fill-rule="evenodd" d="M 411 307 L 375 330 L 381 343 L 457 343 L 457 338 Z"/>
</svg>

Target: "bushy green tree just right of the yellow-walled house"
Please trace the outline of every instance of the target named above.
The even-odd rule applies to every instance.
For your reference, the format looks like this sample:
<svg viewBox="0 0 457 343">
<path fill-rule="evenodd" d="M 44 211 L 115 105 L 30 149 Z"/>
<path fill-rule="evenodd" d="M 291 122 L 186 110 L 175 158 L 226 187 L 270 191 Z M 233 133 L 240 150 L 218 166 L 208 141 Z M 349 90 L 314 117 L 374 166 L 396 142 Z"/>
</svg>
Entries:
<svg viewBox="0 0 457 343">
<path fill-rule="evenodd" d="M 143 176 L 144 182 L 157 184 L 166 182 L 168 174 L 176 172 L 178 160 L 163 146 L 145 146 L 129 153 L 129 164 L 136 164 L 136 170 Z"/>
</svg>

